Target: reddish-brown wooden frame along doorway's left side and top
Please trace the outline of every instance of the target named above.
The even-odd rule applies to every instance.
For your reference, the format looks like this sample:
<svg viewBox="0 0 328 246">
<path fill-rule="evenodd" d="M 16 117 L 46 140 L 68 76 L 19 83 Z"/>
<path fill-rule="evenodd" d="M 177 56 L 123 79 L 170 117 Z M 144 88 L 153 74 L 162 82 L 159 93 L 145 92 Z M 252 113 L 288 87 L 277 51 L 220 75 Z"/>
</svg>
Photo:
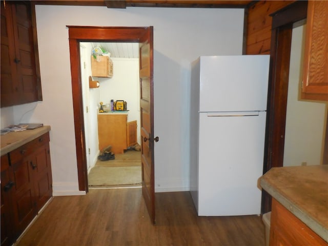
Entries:
<svg viewBox="0 0 328 246">
<path fill-rule="evenodd" d="M 80 71 L 80 42 L 129 42 L 139 43 L 149 27 L 92 27 L 67 26 L 72 76 L 72 96 L 75 127 L 78 189 L 88 192 L 87 151 L 85 143 L 83 97 Z"/>
</svg>

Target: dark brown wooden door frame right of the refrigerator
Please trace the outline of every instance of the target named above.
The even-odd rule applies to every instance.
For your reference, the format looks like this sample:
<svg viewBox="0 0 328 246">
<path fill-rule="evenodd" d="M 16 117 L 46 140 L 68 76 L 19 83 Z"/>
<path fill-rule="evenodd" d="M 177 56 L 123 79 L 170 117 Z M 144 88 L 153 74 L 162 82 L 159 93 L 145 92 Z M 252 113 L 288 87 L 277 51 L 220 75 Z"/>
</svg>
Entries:
<svg viewBox="0 0 328 246">
<path fill-rule="evenodd" d="M 292 30 L 305 23 L 308 1 L 297 1 L 272 13 L 267 131 L 263 174 L 282 167 Z M 261 213 L 271 211 L 271 196 L 262 190 Z"/>
</svg>

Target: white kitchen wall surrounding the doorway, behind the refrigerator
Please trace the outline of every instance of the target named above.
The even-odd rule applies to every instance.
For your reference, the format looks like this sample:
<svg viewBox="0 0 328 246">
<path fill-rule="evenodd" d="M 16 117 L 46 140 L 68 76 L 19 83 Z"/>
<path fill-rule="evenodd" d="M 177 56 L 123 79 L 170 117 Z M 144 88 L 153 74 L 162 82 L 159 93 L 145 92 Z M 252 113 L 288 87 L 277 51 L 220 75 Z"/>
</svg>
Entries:
<svg viewBox="0 0 328 246">
<path fill-rule="evenodd" d="M 155 191 L 189 190 L 191 63 L 200 55 L 241 54 L 243 9 L 36 6 L 36 23 L 44 100 L 30 122 L 51 126 L 54 195 L 84 194 L 78 191 L 67 25 L 154 26 Z M 30 110 L 17 107 L 14 114 Z"/>
</svg>

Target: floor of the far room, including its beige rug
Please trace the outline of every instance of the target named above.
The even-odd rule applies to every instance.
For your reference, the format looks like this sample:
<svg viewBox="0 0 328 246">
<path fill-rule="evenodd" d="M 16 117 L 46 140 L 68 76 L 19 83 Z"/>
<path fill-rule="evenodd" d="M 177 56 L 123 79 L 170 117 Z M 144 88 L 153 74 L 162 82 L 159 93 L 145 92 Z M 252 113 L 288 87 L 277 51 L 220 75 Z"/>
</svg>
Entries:
<svg viewBox="0 0 328 246">
<path fill-rule="evenodd" d="M 141 184 L 141 152 L 115 154 L 114 160 L 96 162 L 88 174 L 90 188 Z"/>
</svg>

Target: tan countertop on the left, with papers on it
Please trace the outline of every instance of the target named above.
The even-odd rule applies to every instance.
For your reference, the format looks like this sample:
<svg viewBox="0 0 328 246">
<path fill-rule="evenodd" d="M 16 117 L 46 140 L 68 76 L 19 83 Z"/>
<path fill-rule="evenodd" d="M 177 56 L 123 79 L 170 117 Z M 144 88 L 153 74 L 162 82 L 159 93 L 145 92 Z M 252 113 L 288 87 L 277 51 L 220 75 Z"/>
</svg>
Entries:
<svg viewBox="0 0 328 246">
<path fill-rule="evenodd" d="M 7 154 L 12 150 L 27 144 L 50 130 L 50 126 L 43 126 L 33 130 L 9 132 L 5 135 L 1 135 L 1 155 Z"/>
</svg>

